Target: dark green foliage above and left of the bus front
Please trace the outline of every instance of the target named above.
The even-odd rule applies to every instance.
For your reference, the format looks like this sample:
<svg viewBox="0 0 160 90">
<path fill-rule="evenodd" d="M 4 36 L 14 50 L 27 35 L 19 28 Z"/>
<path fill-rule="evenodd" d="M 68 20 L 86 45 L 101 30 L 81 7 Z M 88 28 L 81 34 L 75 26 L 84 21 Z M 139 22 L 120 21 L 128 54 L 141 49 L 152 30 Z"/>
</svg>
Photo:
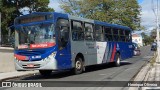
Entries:
<svg viewBox="0 0 160 90">
<path fill-rule="evenodd" d="M 23 15 L 24 7 L 32 12 L 53 12 L 54 9 L 48 7 L 49 0 L 0 0 L 0 12 L 2 13 L 2 34 L 7 34 L 7 28 L 13 25 L 17 16 Z"/>
</svg>

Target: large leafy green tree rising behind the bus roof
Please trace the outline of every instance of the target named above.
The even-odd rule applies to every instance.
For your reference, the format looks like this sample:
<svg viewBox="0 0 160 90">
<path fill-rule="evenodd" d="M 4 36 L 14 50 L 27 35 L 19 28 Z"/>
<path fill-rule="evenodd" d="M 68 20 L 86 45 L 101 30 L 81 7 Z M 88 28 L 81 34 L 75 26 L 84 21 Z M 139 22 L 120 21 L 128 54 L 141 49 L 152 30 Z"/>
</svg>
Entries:
<svg viewBox="0 0 160 90">
<path fill-rule="evenodd" d="M 60 0 L 60 6 L 71 15 L 140 28 L 137 0 Z"/>
</svg>

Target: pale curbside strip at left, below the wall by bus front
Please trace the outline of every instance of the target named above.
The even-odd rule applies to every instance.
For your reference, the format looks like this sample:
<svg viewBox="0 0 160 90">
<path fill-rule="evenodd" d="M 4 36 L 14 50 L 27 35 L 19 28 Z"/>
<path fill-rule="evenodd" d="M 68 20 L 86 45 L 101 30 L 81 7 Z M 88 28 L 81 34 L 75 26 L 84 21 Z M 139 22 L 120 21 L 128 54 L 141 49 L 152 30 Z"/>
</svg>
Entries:
<svg viewBox="0 0 160 90">
<path fill-rule="evenodd" d="M 39 73 L 38 71 L 14 71 L 0 74 L 0 81 L 5 81 L 7 79 L 18 78 L 22 76 L 35 75 Z"/>
</svg>

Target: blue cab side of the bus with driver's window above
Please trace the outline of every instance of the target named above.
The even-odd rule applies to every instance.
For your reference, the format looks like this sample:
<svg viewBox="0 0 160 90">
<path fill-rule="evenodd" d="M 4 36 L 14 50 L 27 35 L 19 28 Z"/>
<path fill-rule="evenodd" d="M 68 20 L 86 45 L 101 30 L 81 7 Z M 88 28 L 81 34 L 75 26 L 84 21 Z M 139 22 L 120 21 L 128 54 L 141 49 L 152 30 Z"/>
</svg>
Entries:
<svg viewBox="0 0 160 90">
<path fill-rule="evenodd" d="M 59 19 L 57 25 L 58 32 L 58 52 L 57 64 L 59 69 L 71 68 L 71 45 L 69 41 L 68 20 Z"/>
</svg>

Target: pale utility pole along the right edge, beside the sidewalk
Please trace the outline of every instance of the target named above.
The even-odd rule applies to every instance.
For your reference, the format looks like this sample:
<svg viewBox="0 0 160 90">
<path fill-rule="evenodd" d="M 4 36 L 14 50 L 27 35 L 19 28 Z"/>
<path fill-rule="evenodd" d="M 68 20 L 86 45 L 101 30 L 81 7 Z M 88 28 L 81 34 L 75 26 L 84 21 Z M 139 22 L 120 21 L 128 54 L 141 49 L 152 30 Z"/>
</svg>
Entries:
<svg viewBox="0 0 160 90">
<path fill-rule="evenodd" d="M 159 46 L 159 24 L 158 24 L 158 22 L 159 22 L 159 13 L 158 13 L 158 6 L 159 6 L 159 4 L 158 4 L 159 2 L 158 2 L 158 0 L 157 0 L 157 15 L 156 15 L 156 26 L 157 26 L 157 58 L 158 58 L 158 60 L 157 60 L 157 62 L 158 63 L 160 63 L 160 56 L 159 56 L 159 48 L 160 48 L 160 46 Z"/>
</svg>

